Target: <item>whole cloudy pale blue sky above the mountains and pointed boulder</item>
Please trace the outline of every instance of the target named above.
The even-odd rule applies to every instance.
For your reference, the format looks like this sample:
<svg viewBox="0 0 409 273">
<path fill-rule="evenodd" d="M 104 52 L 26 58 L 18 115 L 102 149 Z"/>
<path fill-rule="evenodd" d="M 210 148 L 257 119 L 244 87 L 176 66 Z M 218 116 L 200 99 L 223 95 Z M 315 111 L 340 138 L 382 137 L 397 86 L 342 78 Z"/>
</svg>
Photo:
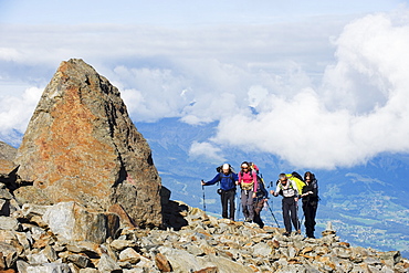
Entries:
<svg viewBox="0 0 409 273">
<path fill-rule="evenodd" d="M 218 122 L 195 157 L 250 143 L 331 169 L 409 151 L 408 1 L 0 1 L 0 36 L 9 143 L 81 57 L 135 122 Z"/>
</svg>

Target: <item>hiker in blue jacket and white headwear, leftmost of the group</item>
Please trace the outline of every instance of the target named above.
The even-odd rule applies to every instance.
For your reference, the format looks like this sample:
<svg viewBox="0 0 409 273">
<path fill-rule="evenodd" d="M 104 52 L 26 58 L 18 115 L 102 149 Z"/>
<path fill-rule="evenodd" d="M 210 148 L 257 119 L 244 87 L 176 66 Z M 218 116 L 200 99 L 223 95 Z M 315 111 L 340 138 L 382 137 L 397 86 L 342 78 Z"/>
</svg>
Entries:
<svg viewBox="0 0 409 273">
<path fill-rule="evenodd" d="M 221 216 L 222 218 L 229 218 L 232 221 L 234 221 L 235 212 L 234 197 L 235 197 L 235 185 L 238 180 L 239 180 L 238 175 L 233 172 L 229 164 L 223 164 L 221 172 L 218 172 L 212 180 L 207 182 L 201 180 L 202 186 L 209 186 L 220 182 L 220 189 L 218 190 L 218 193 L 220 193 L 221 199 L 221 211 L 222 211 Z M 228 207 L 230 207 L 230 210 Z"/>
</svg>

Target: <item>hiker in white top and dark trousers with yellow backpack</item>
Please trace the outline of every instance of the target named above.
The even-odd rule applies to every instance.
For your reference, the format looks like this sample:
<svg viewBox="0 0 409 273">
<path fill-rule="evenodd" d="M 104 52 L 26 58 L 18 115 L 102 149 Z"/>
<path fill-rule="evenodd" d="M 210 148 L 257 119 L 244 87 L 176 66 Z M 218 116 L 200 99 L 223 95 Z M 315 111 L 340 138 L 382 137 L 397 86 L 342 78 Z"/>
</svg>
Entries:
<svg viewBox="0 0 409 273">
<path fill-rule="evenodd" d="M 298 217 L 297 217 L 297 202 L 298 202 L 298 191 L 295 182 L 285 174 L 280 174 L 277 187 L 270 192 L 274 197 L 279 195 L 283 196 L 282 200 L 282 210 L 283 210 L 283 220 L 285 225 L 285 232 L 283 235 L 289 237 L 292 231 L 291 222 L 295 228 L 295 231 L 298 231 Z"/>
</svg>

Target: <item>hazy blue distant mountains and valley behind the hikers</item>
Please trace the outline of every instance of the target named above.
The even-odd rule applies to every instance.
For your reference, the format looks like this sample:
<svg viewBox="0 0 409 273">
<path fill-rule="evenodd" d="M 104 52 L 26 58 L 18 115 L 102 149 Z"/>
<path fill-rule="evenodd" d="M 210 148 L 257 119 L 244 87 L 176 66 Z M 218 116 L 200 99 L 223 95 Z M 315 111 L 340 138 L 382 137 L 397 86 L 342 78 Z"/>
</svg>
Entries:
<svg viewBox="0 0 409 273">
<path fill-rule="evenodd" d="M 177 118 L 166 118 L 157 123 L 137 123 L 136 127 L 150 145 L 154 162 L 162 185 L 171 190 L 171 199 L 203 209 L 204 193 L 207 212 L 219 216 L 217 186 L 202 189 L 200 180 L 212 179 L 216 167 L 223 162 L 189 158 L 191 144 L 214 135 L 216 125 L 191 126 Z M 0 135 L 0 140 L 17 147 L 21 137 L 13 132 L 12 135 Z M 273 155 L 245 153 L 234 147 L 223 147 L 220 156 L 235 168 L 243 160 L 254 161 L 266 186 L 275 181 L 280 172 L 306 171 L 294 169 Z M 342 240 L 354 246 L 399 250 L 409 258 L 409 155 L 384 154 L 363 166 L 311 171 L 318 179 L 321 197 L 316 235 L 319 237 L 331 221 Z M 283 228 L 281 198 L 271 198 L 269 203 Z M 242 217 L 241 211 L 237 214 Z M 263 211 L 262 218 L 268 224 L 276 225 L 270 211 Z M 303 219 L 301 209 L 300 218 Z"/>
</svg>

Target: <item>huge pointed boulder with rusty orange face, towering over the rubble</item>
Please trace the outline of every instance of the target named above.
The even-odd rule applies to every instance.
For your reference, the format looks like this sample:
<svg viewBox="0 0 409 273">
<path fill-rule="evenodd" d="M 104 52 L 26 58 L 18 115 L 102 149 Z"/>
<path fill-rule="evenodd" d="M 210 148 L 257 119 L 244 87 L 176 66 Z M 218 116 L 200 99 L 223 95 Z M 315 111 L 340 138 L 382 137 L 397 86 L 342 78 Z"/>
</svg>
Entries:
<svg viewBox="0 0 409 273">
<path fill-rule="evenodd" d="M 33 182 L 15 192 L 25 202 L 75 201 L 99 212 L 119 203 L 138 227 L 162 222 L 161 182 L 149 145 L 119 91 L 83 60 L 61 63 L 14 162 L 21 179 Z"/>
</svg>

